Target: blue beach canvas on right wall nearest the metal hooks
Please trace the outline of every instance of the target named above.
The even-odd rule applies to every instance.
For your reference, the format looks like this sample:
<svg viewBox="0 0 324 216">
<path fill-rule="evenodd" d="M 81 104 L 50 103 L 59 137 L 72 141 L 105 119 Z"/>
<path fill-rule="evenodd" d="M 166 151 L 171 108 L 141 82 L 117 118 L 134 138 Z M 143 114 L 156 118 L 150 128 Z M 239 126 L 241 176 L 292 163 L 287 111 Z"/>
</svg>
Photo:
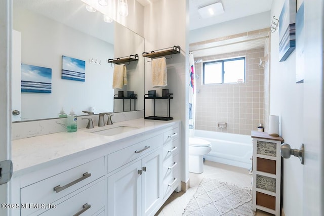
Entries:
<svg viewBox="0 0 324 216">
<path fill-rule="evenodd" d="M 286 0 L 279 17 L 279 59 L 286 61 L 296 47 L 296 0 Z"/>
</svg>

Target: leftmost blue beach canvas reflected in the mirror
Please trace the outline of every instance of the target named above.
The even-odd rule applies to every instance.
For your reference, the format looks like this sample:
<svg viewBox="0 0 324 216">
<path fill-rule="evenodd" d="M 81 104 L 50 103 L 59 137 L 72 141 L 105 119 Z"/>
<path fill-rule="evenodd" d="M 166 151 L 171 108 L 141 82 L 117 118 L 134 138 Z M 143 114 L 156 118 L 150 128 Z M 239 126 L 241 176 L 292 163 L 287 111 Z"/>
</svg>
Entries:
<svg viewBox="0 0 324 216">
<path fill-rule="evenodd" d="M 21 64 L 22 93 L 52 93 L 52 69 Z"/>
</svg>

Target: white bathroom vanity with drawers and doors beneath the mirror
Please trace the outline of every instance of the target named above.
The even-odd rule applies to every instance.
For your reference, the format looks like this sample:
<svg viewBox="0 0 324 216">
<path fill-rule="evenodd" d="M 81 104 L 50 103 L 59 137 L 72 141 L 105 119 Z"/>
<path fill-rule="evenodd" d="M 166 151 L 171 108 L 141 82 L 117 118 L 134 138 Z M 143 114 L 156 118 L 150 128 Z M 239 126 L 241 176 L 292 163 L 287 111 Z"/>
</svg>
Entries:
<svg viewBox="0 0 324 216">
<path fill-rule="evenodd" d="M 154 215 L 181 190 L 179 121 L 141 123 L 153 126 L 116 138 L 78 131 L 71 134 L 78 142 L 66 133 L 14 142 L 37 149 L 54 137 L 62 144 L 51 140 L 46 148 L 55 148 L 48 154 L 65 154 L 67 146 L 73 151 L 14 172 L 12 203 L 21 207 L 11 215 Z M 92 147 L 74 150 L 87 145 Z"/>
</svg>

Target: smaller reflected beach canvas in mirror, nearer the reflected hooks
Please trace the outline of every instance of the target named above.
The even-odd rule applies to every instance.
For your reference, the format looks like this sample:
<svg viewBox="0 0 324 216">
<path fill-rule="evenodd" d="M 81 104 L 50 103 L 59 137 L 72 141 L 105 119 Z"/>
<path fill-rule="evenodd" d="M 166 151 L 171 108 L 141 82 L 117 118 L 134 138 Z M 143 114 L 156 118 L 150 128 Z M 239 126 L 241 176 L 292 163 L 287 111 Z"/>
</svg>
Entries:
<svg viewBox="0 0 324 216">
<path fill-rule="evenodd" d="M 86 79 L 86 62 L 62 56 L 62 79 L 84 82 Z"/>
</svg>

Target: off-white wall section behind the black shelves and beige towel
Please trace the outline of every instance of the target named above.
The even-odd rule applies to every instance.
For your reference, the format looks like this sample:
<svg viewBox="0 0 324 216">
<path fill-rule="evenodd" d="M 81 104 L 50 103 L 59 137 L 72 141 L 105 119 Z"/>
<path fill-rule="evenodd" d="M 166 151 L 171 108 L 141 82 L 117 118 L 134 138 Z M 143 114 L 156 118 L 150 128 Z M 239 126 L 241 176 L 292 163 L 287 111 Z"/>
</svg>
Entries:
<svg viewBox="0 0 324 216">
<path fill-rule="evenodd" d="M 187 89 L 188 89 L 188 62 L 187 53 L 189 42 L 186 40 L 188 33 L 187 12 L 188 0 L 160 0 L 150 3 L 144 8 L 144 38 L 145 51 L 159 50 L 173 46 L 181 47 L 181 54 L 176 54 L 172 59 L 167 59 L 168 86 L 163 89 L 169 89 L 173 93 L 171 100 L 171 117 L 180 119 L 181 122 L 181 161 L 182 177 L 181 181 L 186 182 L 189 178 L 186 163 L 187 138 L 186 128 L 188 109 L 187 109 Z M 152 88 L 151 82 L 151 62 L 145 60 L 145 93 L 148 90 L 155 90 L 161 94 L 162 88 Z M 186 84 L 188 83 L 188 84 Z M 145 101 L 149 105 L 148 100 Z M 150 112 L 150 107 L 145 107 L 145 111 Z M 167 110 L 165 104 L 157 105 L 155 115 L 166 116 Z M 148 116 L 149 113 L 146 114 Z"/>
</svg>

